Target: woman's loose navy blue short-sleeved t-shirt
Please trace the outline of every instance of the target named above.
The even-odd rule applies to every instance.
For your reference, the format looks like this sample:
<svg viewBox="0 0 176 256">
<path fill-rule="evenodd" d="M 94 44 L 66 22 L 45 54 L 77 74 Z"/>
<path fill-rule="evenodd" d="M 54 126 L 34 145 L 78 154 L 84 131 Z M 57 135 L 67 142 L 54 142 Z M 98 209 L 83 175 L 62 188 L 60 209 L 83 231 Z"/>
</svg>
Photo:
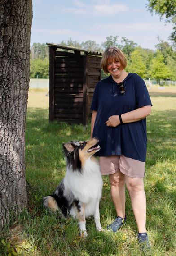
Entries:
<svg viewBox="0 0 176 256">
<path fill-rule="evenodd" d="M 125 94 L 110 75 L 95 87 L 91 110 L 97 111 L 93 137 L 99 137 L 101 150 L 97 156 L 124 155 L 145 162 L 147 149 L 146 118 L 133 123 L 107 127 L 112 115 L 124 114 L 146 105 L 152 105 L 145 82 L 136 73 L 123 80 Z"/>
</svg>

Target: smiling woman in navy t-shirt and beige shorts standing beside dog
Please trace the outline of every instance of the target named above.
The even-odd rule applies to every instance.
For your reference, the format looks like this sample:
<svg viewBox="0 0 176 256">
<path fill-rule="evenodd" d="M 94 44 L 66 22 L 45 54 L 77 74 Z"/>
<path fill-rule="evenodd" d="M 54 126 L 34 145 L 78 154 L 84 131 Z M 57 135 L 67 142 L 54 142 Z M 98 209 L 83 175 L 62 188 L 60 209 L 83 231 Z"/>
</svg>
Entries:
<svg viewBox="0 0 176 256">
<path fill-rule="evenodd" d="M 108 47 L 101 67 L 110 76 L 97 83 L 92 99 L 91 137 L 99 137 L 100 169 L 109 175 L 117 218 L 107 229 L 116 232 L 125 223 L 125 183 L 138 228 L 141 251 L 151 250 L 146 233 L 143 177 L 147 146 L 146 119 L 151 101 L 140 76 L 124 71 L 127 62 L 116 46 Z"/>
</svg>

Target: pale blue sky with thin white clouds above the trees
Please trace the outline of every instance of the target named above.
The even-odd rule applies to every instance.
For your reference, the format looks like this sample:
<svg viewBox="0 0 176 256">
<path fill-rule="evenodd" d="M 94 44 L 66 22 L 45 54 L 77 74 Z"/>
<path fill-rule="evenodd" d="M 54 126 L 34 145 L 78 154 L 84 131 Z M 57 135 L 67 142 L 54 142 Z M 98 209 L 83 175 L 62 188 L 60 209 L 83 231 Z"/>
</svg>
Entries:
<svg viewBox="0 0 176 256">
<path fill-rule="evenodd" d="M 133 40 L 155 50 L 157 37 L 168 41 L 172 24 L 165 23 L 147 8 L 147 0 L 33 0 L 31 45 L 92 40 L 106 37 Z M 168 41 L 169 42 L 169 41 Z"/>
</svg>

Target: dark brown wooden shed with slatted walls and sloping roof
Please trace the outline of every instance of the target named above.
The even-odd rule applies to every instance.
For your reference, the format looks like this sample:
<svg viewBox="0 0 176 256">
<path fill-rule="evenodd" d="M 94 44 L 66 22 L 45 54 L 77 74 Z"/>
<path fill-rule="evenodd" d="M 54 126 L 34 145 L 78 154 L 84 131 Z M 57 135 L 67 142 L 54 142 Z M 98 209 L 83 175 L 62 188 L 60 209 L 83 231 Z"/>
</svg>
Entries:
<svg viewBox="0 0 176 256">
<path fill-rule="evenodd" d="M 49 121 L 88 124 L 93 92 L 101 80 L 101 53 L 49 46 Z"/>
</svg>

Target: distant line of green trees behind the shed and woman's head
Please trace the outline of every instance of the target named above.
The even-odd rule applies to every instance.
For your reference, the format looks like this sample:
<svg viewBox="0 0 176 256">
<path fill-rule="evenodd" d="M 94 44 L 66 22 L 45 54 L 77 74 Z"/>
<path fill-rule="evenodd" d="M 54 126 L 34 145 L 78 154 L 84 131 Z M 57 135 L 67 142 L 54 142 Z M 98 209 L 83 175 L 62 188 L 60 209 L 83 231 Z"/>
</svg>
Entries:
<svg viewBox="0 0 176 256">
<path fill-rule="evenodd" d="M 119 44 L 118 38 L 119 36 L 106 37 L 106 41 L 102 42 L 101 45 L 92 40 L 79 43 L 79 41 L 73 41 L 71 38 L 60 44 L 94 52 L 101 52 L 109 46 L 117 46 L 127 58 L 127 72 L 137 73 L 143 78 L 176 79 L 176 51 L 168 42 L 158 37 L 156 49 L 163 56 L 163 58 L 159 58 L 158 52 L 156 53 L 154 50 L 143 49 L 126 37 L 122 37 Z M 31 46 L 30 78 L 37 78 L 37 75 L 39 78 L 49 77 L 48 46 L 46 44 L 35 43 Z M 106 78 L 103 72 L 101 78 Z"/>
</svg>

